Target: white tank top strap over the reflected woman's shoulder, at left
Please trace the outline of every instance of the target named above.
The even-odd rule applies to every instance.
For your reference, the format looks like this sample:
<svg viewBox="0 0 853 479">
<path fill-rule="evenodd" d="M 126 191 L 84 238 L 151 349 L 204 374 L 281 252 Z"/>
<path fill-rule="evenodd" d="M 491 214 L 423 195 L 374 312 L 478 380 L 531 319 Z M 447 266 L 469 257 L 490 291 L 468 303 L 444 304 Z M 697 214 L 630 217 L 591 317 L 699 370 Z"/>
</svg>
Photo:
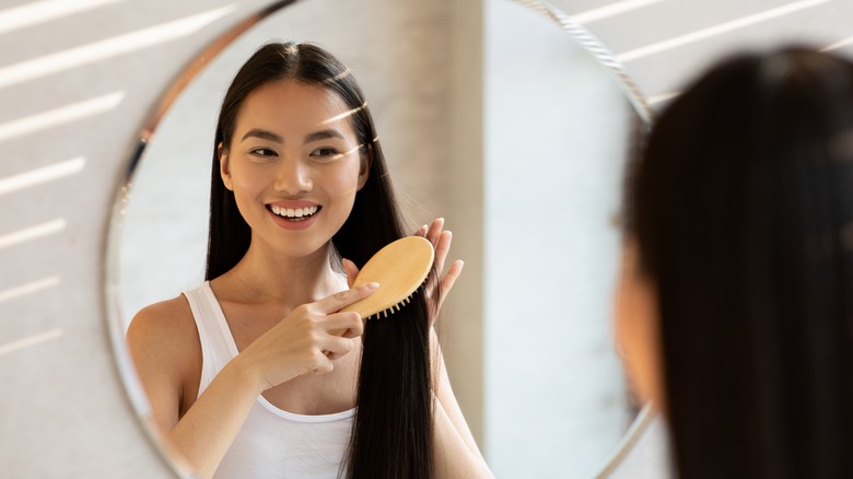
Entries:
<svg viewBox="0 0 853 479">
<path fill-rule="evenodd" d="M 222 367 L 237 355 L 237 346 L 231 334 L 231 328 L 225 320 L 210 282 L 205 281 L 194 290 L 183 292 L 192 312 L 192 318 L 198 329 L 201 342 L 201 379 L 198 394 L 200 395 Z"/>
</svg>

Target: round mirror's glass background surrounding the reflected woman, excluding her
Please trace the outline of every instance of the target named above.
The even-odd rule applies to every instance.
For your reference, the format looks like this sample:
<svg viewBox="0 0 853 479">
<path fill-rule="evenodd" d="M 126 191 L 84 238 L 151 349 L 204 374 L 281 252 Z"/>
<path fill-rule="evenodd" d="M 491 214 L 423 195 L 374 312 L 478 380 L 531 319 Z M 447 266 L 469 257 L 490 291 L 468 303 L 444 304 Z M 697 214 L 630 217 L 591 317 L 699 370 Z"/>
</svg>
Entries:
<svg viewBox="0 0 853 479">
<path fill-rule="evenodd" d="M 609 71 L 544 15 L 484 2 L 480 62 L 460 66 L 453 49 L 469 46 L 449 1 L 393 4 L 292 2 L 194 74 L 142 144 L 114 220 L 114 327 L 125 331 L 140 308 L 203 280 L 212 137 L 236 70 L 270 39 L 316 43 L 364 89 L 413 220 L 443 215 L 455 244 L 468 235 L 466 271 L 445 309 L 481 301 L 482 326 L 442 335 L 493 472 L 592 477 L 635 413 L 610 317 L 622 170 L 643 121 Z M 460 125 L 454 102 L 469 75 L 480 90 L 461 94 L 480 95 L 481 121 Z M 481 157 L 454 148 L 466 138 L 482 143 Z M 476 177 L 455 174 L 465 162 L 477 162 Z M 455 363 L 472 343 L 482 364 Z"/>
</svg>

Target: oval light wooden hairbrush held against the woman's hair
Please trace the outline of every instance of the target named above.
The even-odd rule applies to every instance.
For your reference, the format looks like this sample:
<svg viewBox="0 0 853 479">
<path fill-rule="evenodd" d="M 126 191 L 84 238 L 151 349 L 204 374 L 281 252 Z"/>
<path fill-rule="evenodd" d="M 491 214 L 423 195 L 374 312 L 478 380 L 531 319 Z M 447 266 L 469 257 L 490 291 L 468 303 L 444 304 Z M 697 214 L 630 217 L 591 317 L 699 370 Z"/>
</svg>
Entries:
<svg viewBox="0 0 853 479">
<path fill-rule="evenodd" d="M 389 243 L 359 271 L 352 288 L 375 281 L 379 288 L 341 312 L 359 313 L 362 319 L 388 317 L 400 311 L 426 280 L 432 268 L 432 243 L 421 236 L 406 236 Z"/>
</svg>

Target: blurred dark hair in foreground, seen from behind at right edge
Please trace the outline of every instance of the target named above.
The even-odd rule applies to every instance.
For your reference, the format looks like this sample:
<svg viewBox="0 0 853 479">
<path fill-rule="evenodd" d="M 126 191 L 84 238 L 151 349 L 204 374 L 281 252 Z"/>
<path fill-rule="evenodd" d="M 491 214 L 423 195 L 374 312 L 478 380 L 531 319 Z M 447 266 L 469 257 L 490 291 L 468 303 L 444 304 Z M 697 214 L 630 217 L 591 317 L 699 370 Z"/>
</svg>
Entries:
<svg viewBox="0 0 853 479">
<path fill-rule="evenodd" d="M 629 225 L 678 475 L 853 476 L 853 65 L 729 58 L 659 116 Z"/>
</svg>

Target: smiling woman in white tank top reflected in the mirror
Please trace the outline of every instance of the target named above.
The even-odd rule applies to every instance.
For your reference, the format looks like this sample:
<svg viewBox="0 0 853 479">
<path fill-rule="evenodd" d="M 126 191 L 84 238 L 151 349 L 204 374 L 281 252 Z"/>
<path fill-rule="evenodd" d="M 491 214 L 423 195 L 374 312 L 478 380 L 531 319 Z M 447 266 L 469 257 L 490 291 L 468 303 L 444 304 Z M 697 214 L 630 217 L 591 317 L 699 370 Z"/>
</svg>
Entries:
<svg viewBox="0 0 853 479">
<path fill-rule="evenodd" d="M 442 226 L 418 233 L 446 292 L 461 262 L 436 284 Z M 490 476 L 431 327 L 442 288 L 387 320 L 337 313 L 375 289 L 348 289 L 357 265 L 404 234 L 349 70 L 313 45 L 261 47 L 220 112 L 207 281 L 127 337 L 154 420 L 201 476 Z"/>
</svg>

